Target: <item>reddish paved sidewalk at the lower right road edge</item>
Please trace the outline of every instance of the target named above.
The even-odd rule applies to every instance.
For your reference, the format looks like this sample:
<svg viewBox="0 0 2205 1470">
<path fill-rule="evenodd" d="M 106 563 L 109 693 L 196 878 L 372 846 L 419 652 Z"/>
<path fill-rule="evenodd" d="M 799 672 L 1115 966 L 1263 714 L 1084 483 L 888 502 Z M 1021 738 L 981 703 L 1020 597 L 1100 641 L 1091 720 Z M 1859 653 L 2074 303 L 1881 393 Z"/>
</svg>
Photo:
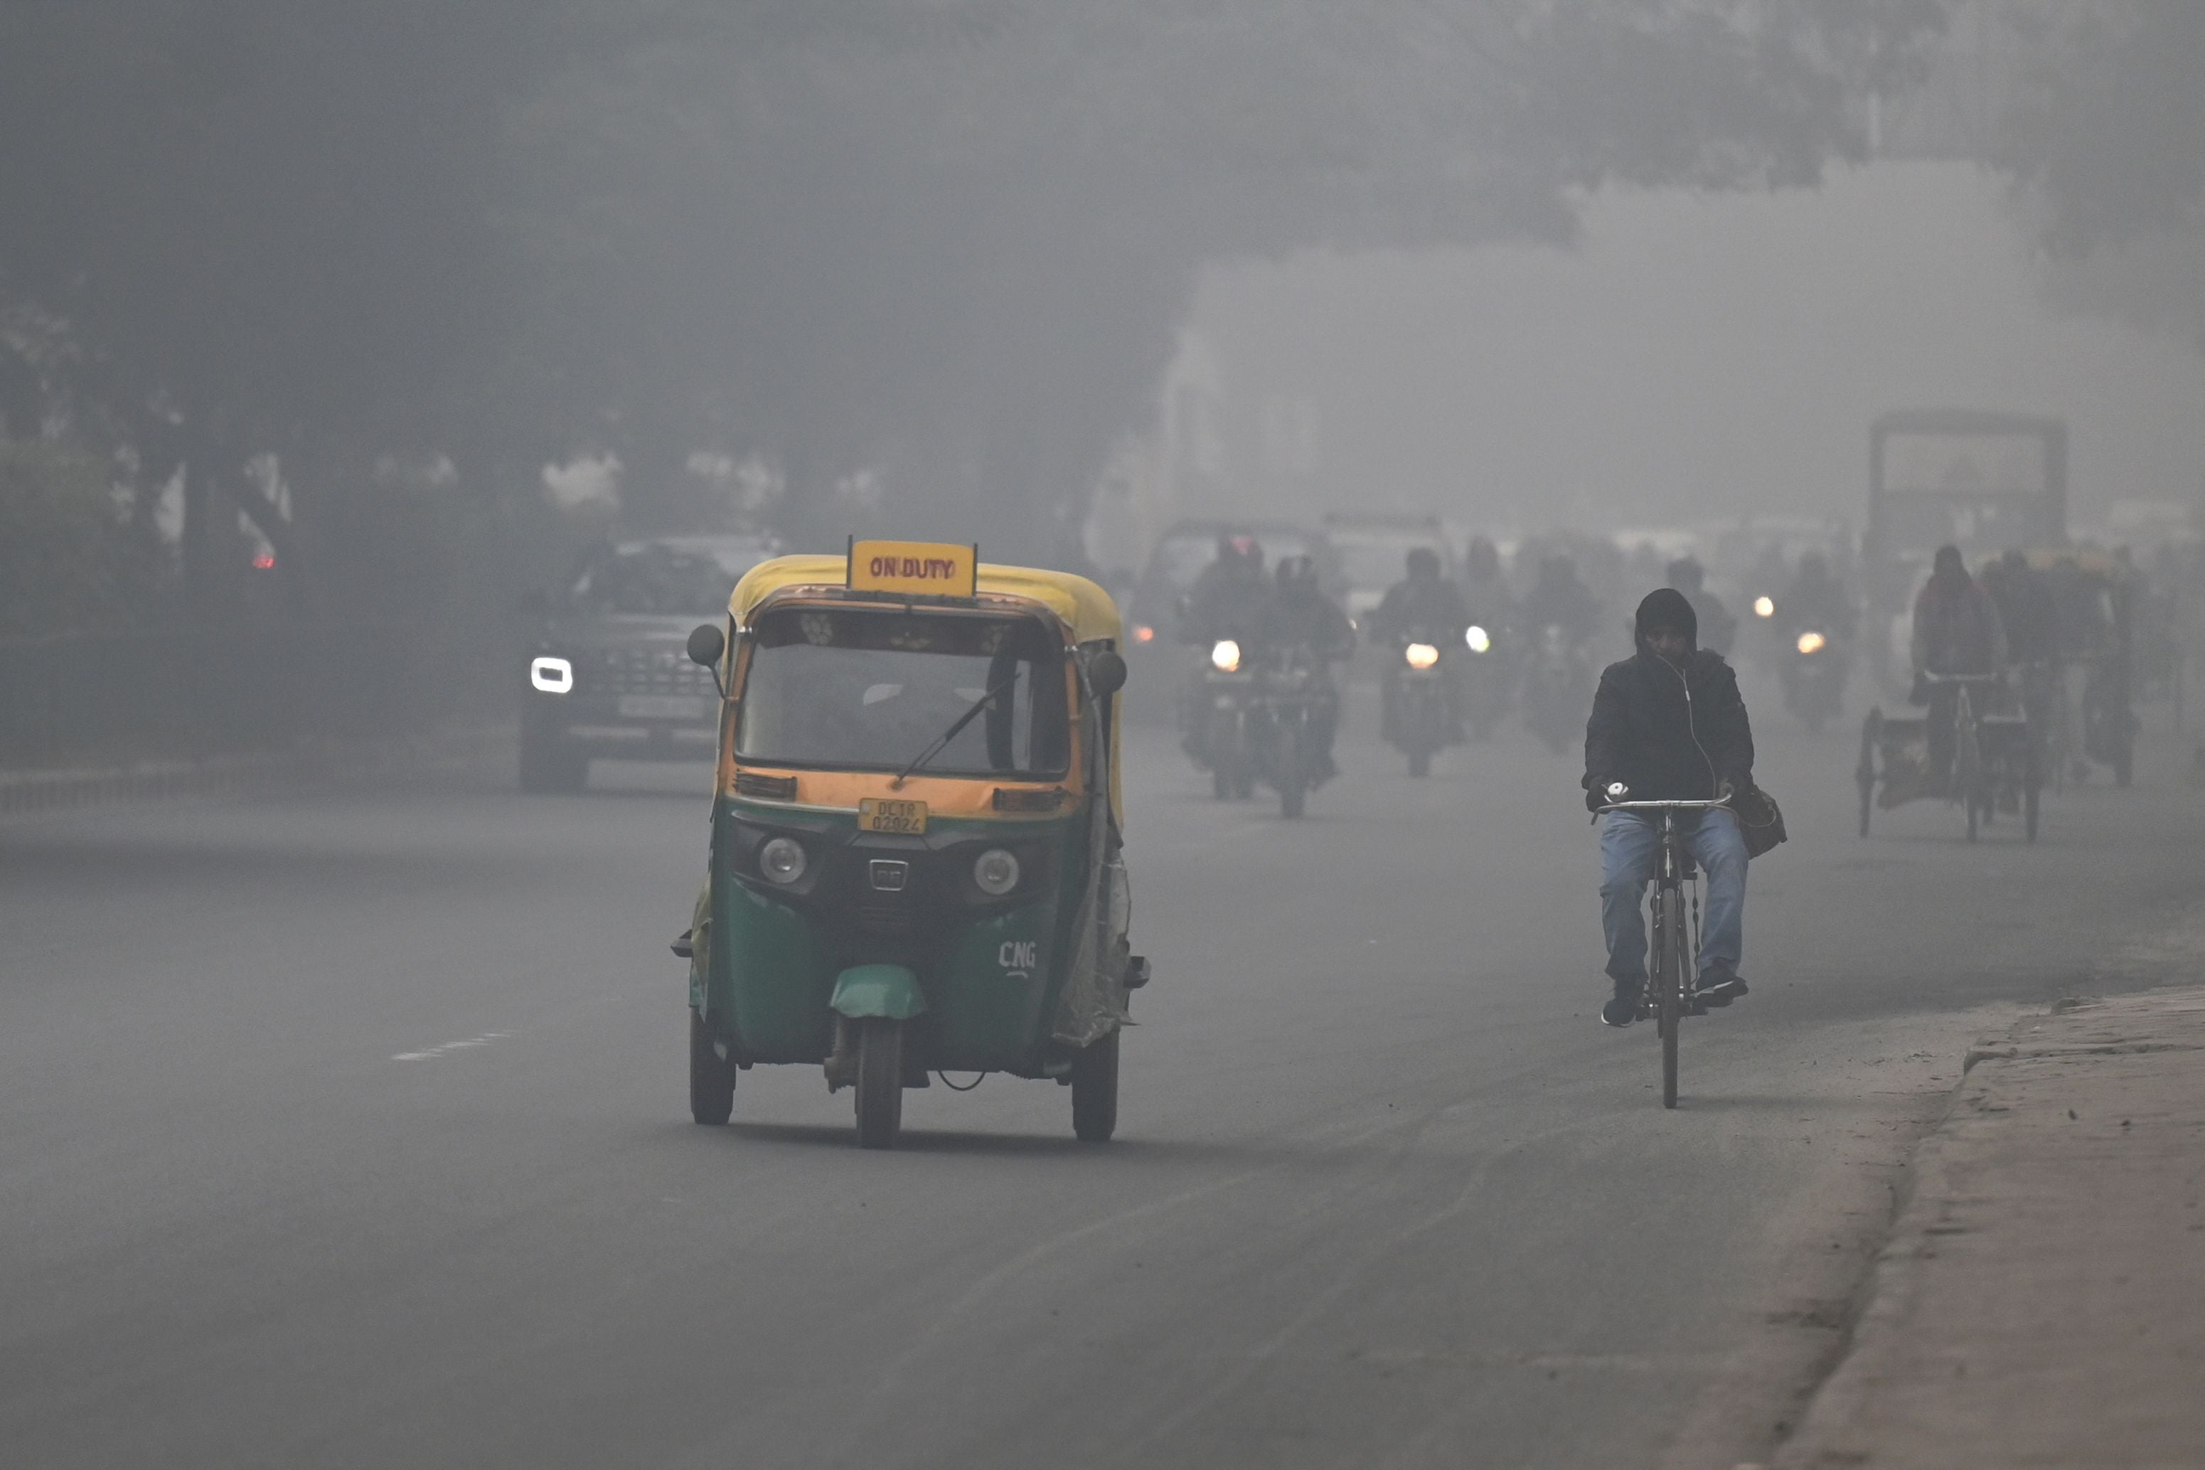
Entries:
<svg viewBox="0 0 2205 1470">
<path fill-rule="evenodd" d="M 1782 1470 L 2192 1466 L 2205 1444 L 2205 987 L 1980 1045 Z"/>
</svg>

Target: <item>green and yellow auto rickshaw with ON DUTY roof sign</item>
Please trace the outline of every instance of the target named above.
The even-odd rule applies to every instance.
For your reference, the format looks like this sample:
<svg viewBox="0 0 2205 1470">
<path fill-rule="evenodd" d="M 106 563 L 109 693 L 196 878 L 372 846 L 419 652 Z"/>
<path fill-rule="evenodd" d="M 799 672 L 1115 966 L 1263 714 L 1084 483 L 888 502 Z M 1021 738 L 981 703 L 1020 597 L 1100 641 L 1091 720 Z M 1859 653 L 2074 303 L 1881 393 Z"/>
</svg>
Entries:
<svg viewBox="0 0 2205 1470">
<path fill-rule="evenodd" d="M 809 1062 L 889 1148 L 906 1087 L 1001 1071 L 1069 1087 L 1074 1135 L 1109 1139 L 1149 979 L 1109 595 L 975 547 L 851 542 L 756 566 L 688 652 L 723 694 L 710 871 L 677 943 L 692 1117 L 725 1124 L 759 1062 Z"/>
</svg>

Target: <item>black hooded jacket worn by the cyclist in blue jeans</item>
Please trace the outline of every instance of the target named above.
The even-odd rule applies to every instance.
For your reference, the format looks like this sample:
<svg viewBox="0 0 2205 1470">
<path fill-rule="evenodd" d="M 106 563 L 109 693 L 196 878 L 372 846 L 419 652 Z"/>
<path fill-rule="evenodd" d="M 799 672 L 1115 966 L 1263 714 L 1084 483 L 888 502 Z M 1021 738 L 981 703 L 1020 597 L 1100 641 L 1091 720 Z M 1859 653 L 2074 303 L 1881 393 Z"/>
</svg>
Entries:
<svg viewBox="0 0 2205 1470">
<path fill-rule="evenodd" d="M 1753 727 L 1738 674 L 1722 655 L 1693 648 L 1682 666 L 1647 648 L 1649 628 L 1682 628 L 1698 637 L 1691 602 L 1674 588 L 1638 604 L 1638 652 L 1601 672 L 1585 721 L 1585 804 L 1596 807 L 1610 782 L 1641 802 L 1704 802 L 1715 782 L 1753 785 Z"/>
</svg>

